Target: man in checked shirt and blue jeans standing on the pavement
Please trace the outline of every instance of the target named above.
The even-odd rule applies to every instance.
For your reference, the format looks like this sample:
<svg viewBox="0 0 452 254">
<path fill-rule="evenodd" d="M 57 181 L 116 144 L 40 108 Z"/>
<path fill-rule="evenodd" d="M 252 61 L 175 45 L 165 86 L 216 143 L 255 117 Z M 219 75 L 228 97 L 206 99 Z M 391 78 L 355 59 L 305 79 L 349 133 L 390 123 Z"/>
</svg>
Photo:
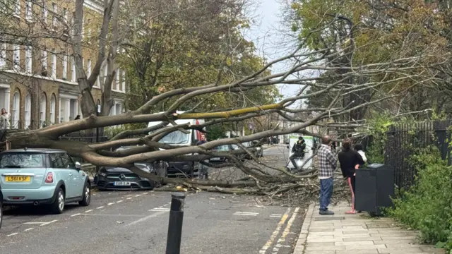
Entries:
<svg viewBox="0 0 452 254">
<path fill-rule="evenodd" d="M 319 180 L 320 180 L 320 211 L 319 214 L 331 215 L 333 211 L 328 210 L 333 195 L 333 174 L 338 164 L 335 155 L 331 151 L 331 138 L 326 135 L 322 138 L 322 144 L 317 152 L 319 158 Z"/>
</svg>

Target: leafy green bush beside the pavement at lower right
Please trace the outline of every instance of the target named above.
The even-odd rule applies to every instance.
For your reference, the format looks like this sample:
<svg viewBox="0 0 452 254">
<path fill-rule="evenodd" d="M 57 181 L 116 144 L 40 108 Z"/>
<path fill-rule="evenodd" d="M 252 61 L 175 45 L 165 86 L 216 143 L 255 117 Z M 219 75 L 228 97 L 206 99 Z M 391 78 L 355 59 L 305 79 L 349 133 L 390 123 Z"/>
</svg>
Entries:
<svg viewBox="0 0 452 254">
<path fill-rule="evenodd" d="M 416 165 L 416 184 L 400 193 L 389 214 L 418 229 L 422 239 L 452 249 L 452 167 L 441 160 L 436 147 L 419 150 L 410 159 Z M 452 253 L 452 251 L 451 251 Z"/>
</svg>

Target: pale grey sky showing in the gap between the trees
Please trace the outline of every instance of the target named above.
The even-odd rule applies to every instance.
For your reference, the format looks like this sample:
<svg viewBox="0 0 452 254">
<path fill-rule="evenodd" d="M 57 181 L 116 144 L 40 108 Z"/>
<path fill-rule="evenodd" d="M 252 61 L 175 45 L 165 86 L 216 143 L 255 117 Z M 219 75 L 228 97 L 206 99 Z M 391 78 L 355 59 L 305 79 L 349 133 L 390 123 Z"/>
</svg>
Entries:
<svg viewBox="0 0 452 254">
<path fill-rule="evenodd" d="M 254 42 L 257 53 L 264 56 L 267 61 L 285 56 L 289 50 L 280 46 L 281 40 L 284 40 L 278 32 L 283 29 L 280 18 L 282 7 L 280 0 L 260 0 L 260 4 L 254 8 L 254 13 L 251 14 L 256 22 L 251 25 L 250 30 L 245 32 L 246 39 Z M 273 73 L 279 73 L 285 69 L 284 63 L 276 64 L 271 68 Z M 284 97 L 293 96 L 299 90 L 298 85 L 278 85 L 278 88 Z"/>
</svg>

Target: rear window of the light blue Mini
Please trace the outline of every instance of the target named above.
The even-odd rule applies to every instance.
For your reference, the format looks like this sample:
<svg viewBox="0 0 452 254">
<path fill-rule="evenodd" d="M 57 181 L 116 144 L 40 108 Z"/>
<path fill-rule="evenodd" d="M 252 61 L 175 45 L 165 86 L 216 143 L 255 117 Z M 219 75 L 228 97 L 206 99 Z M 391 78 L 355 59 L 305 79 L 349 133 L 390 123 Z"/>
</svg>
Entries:
<svg viewBox="0 0 452 254">
<path fill-rule="evenodd" d="M 44 169 L 44 154 L 40 152 L 5 152 L 0 155 L 0 169 Z"/>
</svg>

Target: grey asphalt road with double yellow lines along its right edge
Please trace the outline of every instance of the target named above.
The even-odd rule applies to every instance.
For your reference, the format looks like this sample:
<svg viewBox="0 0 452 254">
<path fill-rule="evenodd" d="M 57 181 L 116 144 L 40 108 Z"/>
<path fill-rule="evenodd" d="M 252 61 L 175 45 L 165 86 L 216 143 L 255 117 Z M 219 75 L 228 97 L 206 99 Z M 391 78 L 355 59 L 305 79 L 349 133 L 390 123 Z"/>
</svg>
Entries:
<svg viewBox="0 0 452 254">
<path fill-rule="evenodd" d="M 89 207 L 71 205 L 64 214 L 9 210 L 0 253 L 165 253 L 169 202 L 170 193 L 158 191 L 95 192 Z M 251 196 L 188 194 L 181 253 L 289 254 L 304 212 L 256 205 Z"/>
</svg>

